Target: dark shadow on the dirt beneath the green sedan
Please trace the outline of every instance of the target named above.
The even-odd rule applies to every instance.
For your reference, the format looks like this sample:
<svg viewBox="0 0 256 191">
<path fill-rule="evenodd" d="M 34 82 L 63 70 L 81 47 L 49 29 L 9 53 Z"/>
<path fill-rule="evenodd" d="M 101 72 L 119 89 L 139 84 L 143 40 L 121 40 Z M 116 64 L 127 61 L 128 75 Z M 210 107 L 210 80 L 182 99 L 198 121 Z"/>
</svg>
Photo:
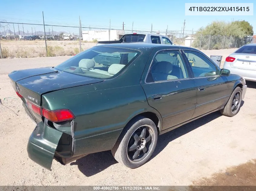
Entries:
<svg viewBox="0 0 256 191">
<path fill-rule="evenodd" d="M 241 106 L 242 105 L 243 105 L 243 102 L 241 103 Z M 204 116 L 200 119 L 187 123 L 163 135 L 160 135 L 158 138 L 157 146 L 151 158 L 154 158 L 156 155 L 158 155 L 168 145 L 169 142 L 175 140 L 176 138 L 182 135 L 185 135 L 193 131 L 194 129 L 200 126 L 203 126 L 209 123 L 214 119 L 217 119 L 220 116 L 221 116 L 221 113 L 217 111 L 207 116 Z M 85 176 L 90 177 L 101 172 L 102 170 L 105 170 L 106 168 L 116 163 L 117 161 L 112 156 L 111 151 L 104 151 L 104 152 L 89 154 L 81 159 L 76 160 L 75 162 L 72 162 L 70 165 L 77 165 L 78 169 Z"/>
</svg>

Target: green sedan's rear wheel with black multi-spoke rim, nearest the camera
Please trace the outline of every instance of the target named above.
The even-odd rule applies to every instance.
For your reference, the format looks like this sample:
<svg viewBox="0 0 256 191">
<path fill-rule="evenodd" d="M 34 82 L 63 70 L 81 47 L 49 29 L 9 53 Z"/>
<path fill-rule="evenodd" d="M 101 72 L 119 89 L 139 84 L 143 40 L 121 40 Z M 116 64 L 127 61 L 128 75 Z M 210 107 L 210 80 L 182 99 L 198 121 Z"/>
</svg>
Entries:
<svg viewBox="0 0 256 191">
<path fill-rule="evenodd" d="M 127 167 L 138 168 L 150 159 L 157 138 L 155 123 L 151 119 L 138 116 L 125 126 L 111 149 L 112 155 L 115 160 Z"/>
</svg>

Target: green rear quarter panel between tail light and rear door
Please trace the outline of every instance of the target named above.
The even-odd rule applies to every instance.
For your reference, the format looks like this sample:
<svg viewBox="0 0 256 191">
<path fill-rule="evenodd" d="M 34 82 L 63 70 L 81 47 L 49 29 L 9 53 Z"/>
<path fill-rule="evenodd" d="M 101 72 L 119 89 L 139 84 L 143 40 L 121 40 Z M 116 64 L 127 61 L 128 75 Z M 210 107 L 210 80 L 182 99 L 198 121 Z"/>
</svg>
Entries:
<svg viewBox="0 0 256 191">
<path fill-rule="evenodd" d="M 161 118 L 148 105 L 140 85 L 147 59 L 147 55 L 141 55 L 117 78 L 42 96 L 42 107 L 74 113 L 73 156 L 110 150 L 125 125 L 139 113 L 151 111 Z"/>
</svg>

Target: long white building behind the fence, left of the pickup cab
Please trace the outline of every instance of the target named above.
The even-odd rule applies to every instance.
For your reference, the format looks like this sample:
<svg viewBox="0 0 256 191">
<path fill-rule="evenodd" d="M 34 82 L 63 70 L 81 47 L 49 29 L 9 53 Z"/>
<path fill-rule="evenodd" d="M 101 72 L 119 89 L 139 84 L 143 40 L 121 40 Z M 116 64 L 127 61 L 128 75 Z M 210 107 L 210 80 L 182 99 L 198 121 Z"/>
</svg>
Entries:
<svg viewBox="0 0 256 191">
<path fill-rule="evenodd" d="M 110 35 L 109 35 L 110 31 Z M 83 40 L 98 41 L 119 40 L 125 34 L 124 30 L 84 30 L 82 32 Z M 110 38 L 109 38 L 110 37 Z"/>
</svg>

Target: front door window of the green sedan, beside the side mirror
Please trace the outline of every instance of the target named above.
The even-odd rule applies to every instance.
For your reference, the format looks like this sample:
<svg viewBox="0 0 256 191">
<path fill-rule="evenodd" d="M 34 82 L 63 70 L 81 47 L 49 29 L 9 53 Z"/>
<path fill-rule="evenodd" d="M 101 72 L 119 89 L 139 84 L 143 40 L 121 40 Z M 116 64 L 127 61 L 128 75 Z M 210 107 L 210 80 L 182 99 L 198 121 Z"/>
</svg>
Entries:
<svg viewBox="0 0 256 191">
<path fill-rule="evenodd" d="M 189 50 L 184 50 L 184 53 L 192 67 L 194 77 L 219 75 L 219 71 L 216 66 L 204 55 Z"/>
</svg>

